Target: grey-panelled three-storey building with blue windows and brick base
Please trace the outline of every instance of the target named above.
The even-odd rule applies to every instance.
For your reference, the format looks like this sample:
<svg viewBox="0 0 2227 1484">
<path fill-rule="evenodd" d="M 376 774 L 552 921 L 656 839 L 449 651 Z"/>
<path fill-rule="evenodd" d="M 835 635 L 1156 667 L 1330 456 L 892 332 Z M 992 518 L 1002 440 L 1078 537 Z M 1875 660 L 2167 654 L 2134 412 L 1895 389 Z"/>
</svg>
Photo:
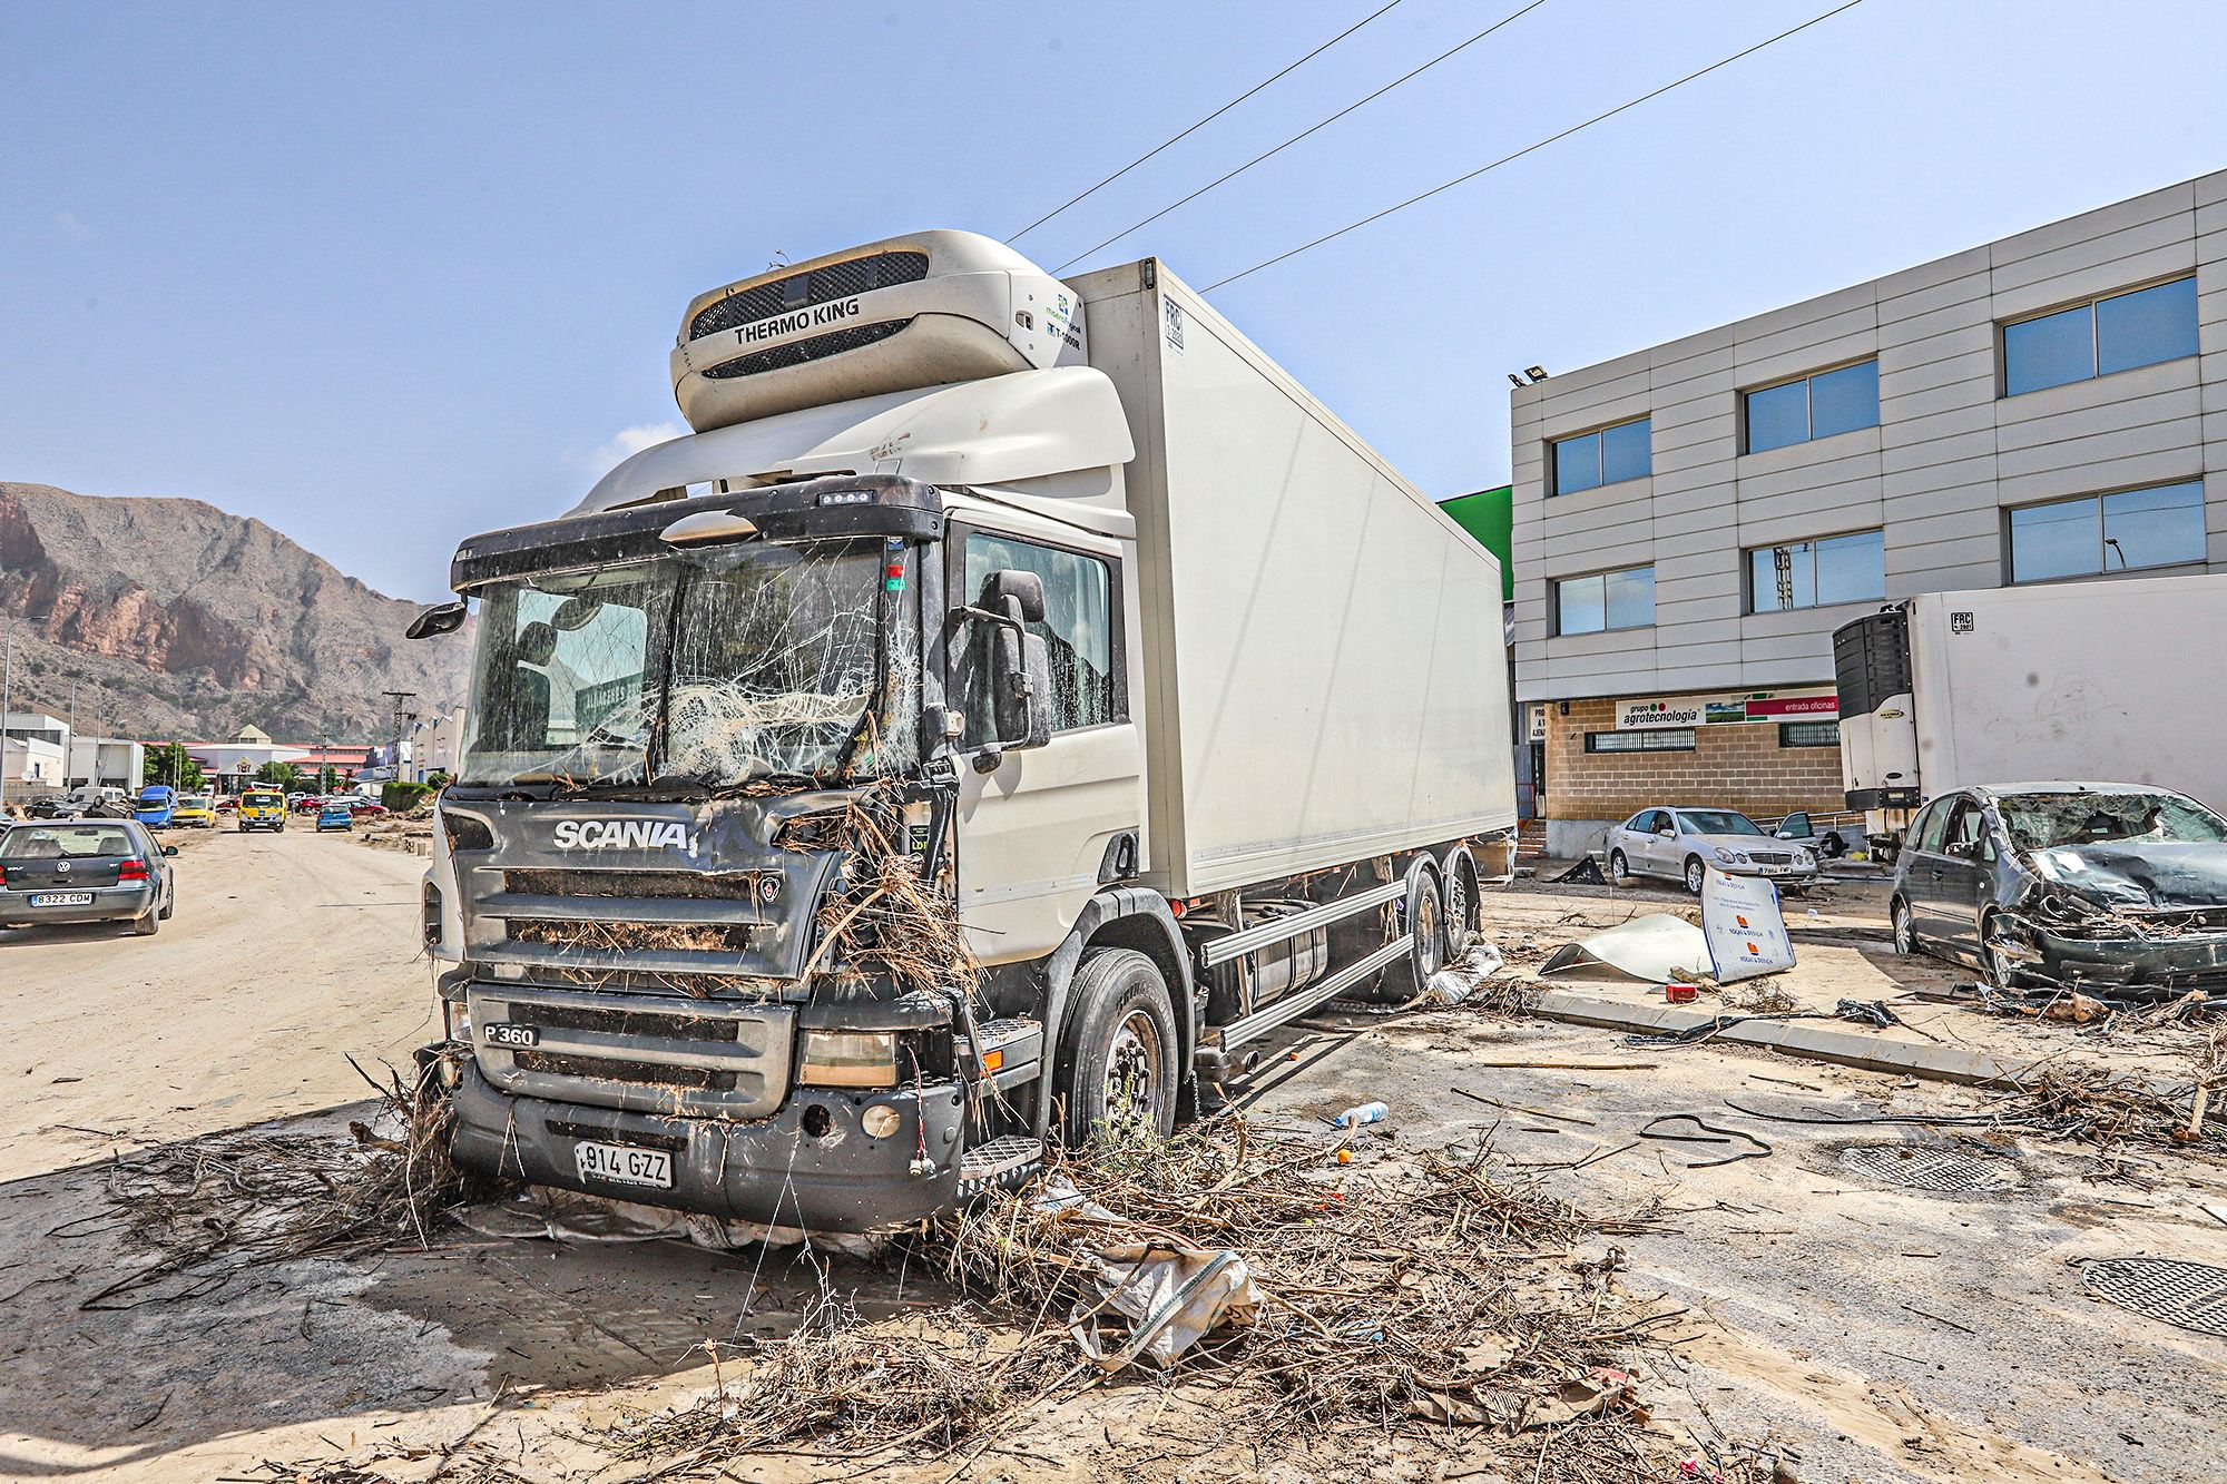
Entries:
<svg viewBox="0 0 2227 1484">
<path fill-rule="evenodd" d="M 1840 809 L 1840 624 L 1929 590 L 2227 570 L 2227 172 L 1512 403 L 1548 851 L 1648 804 Z"/>
</svg>

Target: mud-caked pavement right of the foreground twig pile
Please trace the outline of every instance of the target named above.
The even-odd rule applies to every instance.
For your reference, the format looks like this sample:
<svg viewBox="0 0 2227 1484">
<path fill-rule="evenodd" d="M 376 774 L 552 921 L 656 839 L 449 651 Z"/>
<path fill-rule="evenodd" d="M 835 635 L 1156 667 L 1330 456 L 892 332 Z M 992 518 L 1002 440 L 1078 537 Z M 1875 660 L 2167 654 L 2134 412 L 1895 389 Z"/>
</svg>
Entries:
<svg viewBox="0 0 2227 1484">
<path fill-rule="evenodd" d="M 1588 1208 L 1664 1203 L 1661 1230 L 1619 1239 L 1623 1281 L 1690 1308 L 1657 1375 L 1677 1393 L 1666 1410 L 1701 1437 L 1779 1448 L 1802 1480 L 2223 1477 L 2227 1339 L 2096 1301 L 2078 1268 L 2127 1254 L 2227 1266 L 2227 1226 L 2205 1210 L 2227 1201 L 2223 1168 L 1984 1127 L 1742 1114 L 1728 1101 L 1799 1119 L 1991 1107 L 1978 1092 L 1759 1052 L 1635 1047 L 1463 1012 L 1314 1025 L 1287 1063 L 1305 1070 L 1249 1099 L 1258 1119 L 1305 1127 L 1383 1099 L 1392 1119 L 1356 1139 L 1363 1159 L 1490 1136 Z M 1588 1070 L 1481 1065 L 1494 1061 Z M 1750 1139 L 1641 1136 L 1650 1123 L 1706 1134 L 1655 1123 L 1670 1114 Z M 1931 1150 L 1975 1156 L 2000 1188 L 1893 1183 Z M 1728 1156 L 1742 1159 L 1710 1168 Z"/>
</svg>

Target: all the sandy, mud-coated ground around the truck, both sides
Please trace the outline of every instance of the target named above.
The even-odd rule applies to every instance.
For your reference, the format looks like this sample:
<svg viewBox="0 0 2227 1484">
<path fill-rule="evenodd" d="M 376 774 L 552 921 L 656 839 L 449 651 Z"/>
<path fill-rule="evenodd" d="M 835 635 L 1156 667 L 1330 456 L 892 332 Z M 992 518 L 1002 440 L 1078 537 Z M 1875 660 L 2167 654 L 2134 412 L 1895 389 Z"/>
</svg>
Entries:
<svg viewBox="0 0 2227 1484">
<path fill-rule="evenodd" d="M 403 1063 L 430 1032 L 414 856 L 307 831 L 183 847 L 178 914 L 158 938 L 0 936 L 18 1067 L 18 1096 L 0 1110 L 0 1477 L 245 1480 L 272 1477 L 265 1459 L 374 1451 L 419 1453 L 381 1459 L 383 1477 L 468 1477 L 443 1473 L 439 1451 L 470 1439 L 528 1480 L 628 1480 L 639 1466 L 615 1466 L 577 1435 L 702 1395 L 713 1382 L 702 1341 L 779 1335 L 822 1292 L 882 1315 L 946 1299 L 918 1272 L 820 1270 L 795 1250 L 448 1232 L 423 1254 L 283 1263 L 214 1290 L 174 1281 L 122 1299 L 129 1308 L 80 1308 L 143 1261 L 102 1199 L 111 1150 L 276 1116 L 339 1127 L 363 1092 L 343 1052 Z M 1866 938 L 1884 931 L 1875 907 L 1826 896 L 1802 929 L 1817 934 L 1808 976 L 1877 976 L 1886 989 L 1864 998 L 1955 978 L 1882 963 Z M 1492 898 L 1510 943 L 1583 931 L 1563 918 L 1615 920 L 1632 905 Z M 1646 902 L 1677 905 L 1675 894 Z M 1819 992 L 1808 976 L 1791 985 L 1799 996 Z M 1490 1065 L 1539 1061 L 1617 1070 Z M 1394 1116 L 1358 1141 L 1365 1163 L 1492 1139 L 1514 1168 L 1588 1205 L 1659 1205 L 1657 1232 L 1619 1239 L 1626 1288 L 1688 1310 L 1675 1344 L 1641 1357 L 1648 1390 L 1697 1437 L 1782 1448 L 1788 1477 L 2223 1477 L 2227 1341 L 2098 1304 L 2076 1266 L 2136 1252 L 2227 1263 L 2227 1226 L 2205 1210 L 2227 1212 L 2227 1172 L 2214 1165 L 2169 1154 L 2113 1165 L 1962 1127 L 1775 1123 L 1726 1099 L 1762 1114 L 1875 1116 L 1966 1112 L 1984 1094 L 1768 1052 L 1632 1047 L 1615 1032 L 1477 1009 L 1330 1012 L 1287 1029 L 1265 1067 L 1234 1092 L 1292 1136 L 1327 1141 L 1312 1132 L 1323 1114 L 1385 1099 Z M 1770 1154 L 1693 1170 L 1724 1150 L 1641 1136 L 1675 1112 L 1748 1130 Z M 2009 1161 L 2015 1183 L 1986 1197 L 1900 1190 L 1842 1163 L 1857 1143 L 1973 1148 Z M 1332 1462 L 1267 1473 L 1334 1473 Z M 924 1484 L 1263 1473 L 1209 1390 L 1149 1382 L 1047 1408 L 973 1457 L 884 1464 L 875 1473 Z M 1345 1471 L 1356 1466 L 1358 1453 Z M 855 1459 L 766 1455 L 733 1477 L 860 1473 Z M 1463 1477 L 1459 1439 L 1399 1473 Z"/>
</svg>

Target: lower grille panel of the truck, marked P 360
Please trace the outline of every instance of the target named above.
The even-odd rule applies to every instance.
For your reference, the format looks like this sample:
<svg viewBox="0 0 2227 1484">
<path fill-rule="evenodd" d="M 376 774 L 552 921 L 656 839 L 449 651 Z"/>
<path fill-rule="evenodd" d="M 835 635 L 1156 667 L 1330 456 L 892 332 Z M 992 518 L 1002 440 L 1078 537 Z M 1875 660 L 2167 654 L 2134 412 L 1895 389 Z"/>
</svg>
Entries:
<svg viewBox="0 0 2227 1484">
<path fill-rule="evenodd" d="M 472 1025 L 526 1025 L 530 1047 L 477 1045 L 517 1096 L 679 1116 L 764 1119 L 788 1096 L 795 1009 L 474 983 Z"/>
</svg>

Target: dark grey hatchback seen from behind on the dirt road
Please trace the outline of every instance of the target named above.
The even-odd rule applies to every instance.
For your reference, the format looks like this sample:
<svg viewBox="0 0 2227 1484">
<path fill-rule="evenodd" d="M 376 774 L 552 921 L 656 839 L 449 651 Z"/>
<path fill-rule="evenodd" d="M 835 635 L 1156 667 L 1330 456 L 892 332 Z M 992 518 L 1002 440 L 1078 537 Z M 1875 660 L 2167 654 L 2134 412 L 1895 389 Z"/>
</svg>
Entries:
<svg viewBox="0 0 2227 1484">
<path fill-rule="evenodd" d="M 16 824 L 0 833 L 0 927 L 127 920 L 134 934 L 160 931 L 176 905 L 176 853 L 138 820 Z"/>
</svg>

